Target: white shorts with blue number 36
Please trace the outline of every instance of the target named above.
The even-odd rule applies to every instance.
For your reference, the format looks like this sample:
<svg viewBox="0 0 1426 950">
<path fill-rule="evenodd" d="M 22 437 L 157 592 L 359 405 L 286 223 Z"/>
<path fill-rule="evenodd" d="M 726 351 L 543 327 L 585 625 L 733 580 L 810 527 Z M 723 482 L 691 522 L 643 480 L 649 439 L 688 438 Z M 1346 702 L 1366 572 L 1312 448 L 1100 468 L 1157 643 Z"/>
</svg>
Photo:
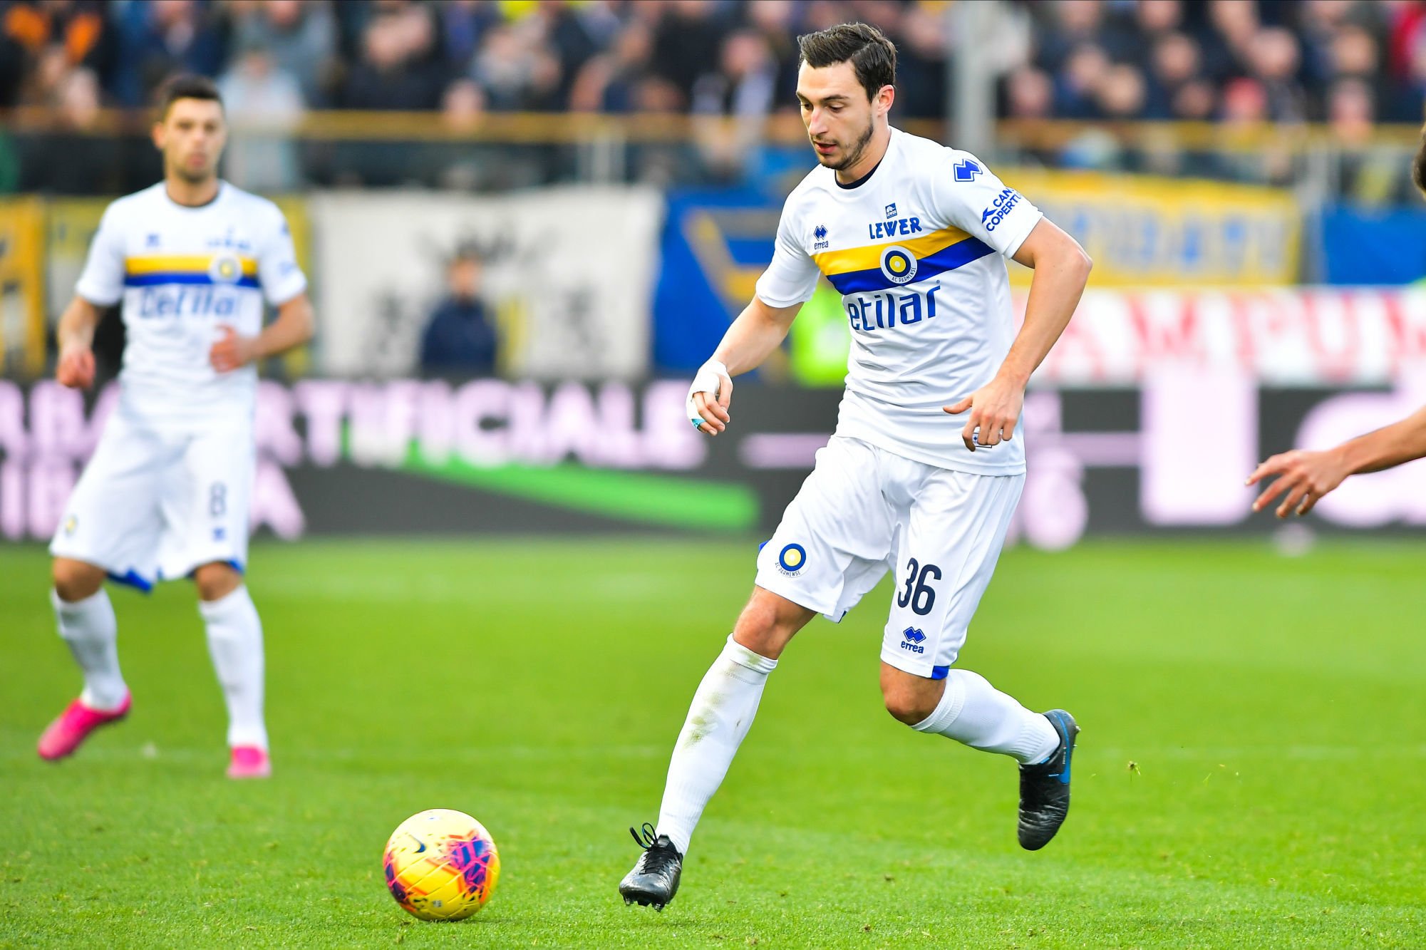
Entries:
<svg viewBox="0 0 1426 950">
<path fill-rule="evenodd" d="M 834 435 L 759 552 L 757 586 L 840 622 L 891 571 L 881 659 L 943 679 L 1024 484 L 1024 475 L 957 472 Z"/>
</svg>

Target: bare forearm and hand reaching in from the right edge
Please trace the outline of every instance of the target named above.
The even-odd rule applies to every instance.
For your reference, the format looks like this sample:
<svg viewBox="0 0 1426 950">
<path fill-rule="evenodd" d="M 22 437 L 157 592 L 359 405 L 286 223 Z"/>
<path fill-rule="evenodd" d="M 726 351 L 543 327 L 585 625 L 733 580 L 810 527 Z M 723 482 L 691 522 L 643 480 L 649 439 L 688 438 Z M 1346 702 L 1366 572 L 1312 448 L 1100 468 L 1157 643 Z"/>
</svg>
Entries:
<svg viewBox="0 0 1426 950">
<path fill-rule="evenodd" d="M 1278 518 L 1292 512 L 1306 515 L 1323 495 L 1335 489 L 1348 475 L 1379 472 L 1403 462 L 1426 458 L 1426 407 L 1400 422 L 1359 435 L 1322 452 L 1295 449 L 1273 455 L 1248 476 L 1249 485 L 1278 475 L 1258 499 L 1253 511 L 1262 511 L 1279 495 Z"/>
</svg>

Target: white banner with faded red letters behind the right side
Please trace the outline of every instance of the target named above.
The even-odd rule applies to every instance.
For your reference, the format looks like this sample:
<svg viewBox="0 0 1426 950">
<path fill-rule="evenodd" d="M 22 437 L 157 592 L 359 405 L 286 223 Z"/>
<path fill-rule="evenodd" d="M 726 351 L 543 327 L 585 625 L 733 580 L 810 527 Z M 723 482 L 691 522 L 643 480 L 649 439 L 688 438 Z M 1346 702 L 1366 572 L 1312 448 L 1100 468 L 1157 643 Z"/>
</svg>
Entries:
<svg viewBox="0 0 1426 950">
<path fill-rule="evenodd" d="M 1017 307 L 1022 317 L 1022 294 Z M 1131 387 L 1192 371 L 1360 387 L 1423 365 L 1426 288 L 1089 290 L 1035 382 Z"/>
</svg>

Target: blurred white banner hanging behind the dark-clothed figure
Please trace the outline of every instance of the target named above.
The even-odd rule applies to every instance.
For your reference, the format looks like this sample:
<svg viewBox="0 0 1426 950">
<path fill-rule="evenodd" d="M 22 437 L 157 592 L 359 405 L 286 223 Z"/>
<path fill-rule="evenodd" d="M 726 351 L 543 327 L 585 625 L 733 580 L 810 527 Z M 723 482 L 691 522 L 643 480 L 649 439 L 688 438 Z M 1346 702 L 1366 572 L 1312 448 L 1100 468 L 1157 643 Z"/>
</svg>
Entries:
<svg viewBox="0 0 1426 950">
<path fill-rule="evenodd" d="M 663 198 L 645 187 L 509 195 L 318 193 L 318 352 L 324 372 L 389 378 L 418 367 L 455 250 L 485 261 L 501 372 L 523 379 L 647 374 Z"/>
</svg>

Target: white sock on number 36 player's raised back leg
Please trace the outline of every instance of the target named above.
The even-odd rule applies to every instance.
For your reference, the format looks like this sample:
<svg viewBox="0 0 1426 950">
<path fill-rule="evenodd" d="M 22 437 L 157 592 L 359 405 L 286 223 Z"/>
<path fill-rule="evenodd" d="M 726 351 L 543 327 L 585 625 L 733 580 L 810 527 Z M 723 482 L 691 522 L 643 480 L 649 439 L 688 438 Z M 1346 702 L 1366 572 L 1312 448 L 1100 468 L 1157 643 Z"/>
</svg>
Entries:
<svg viewBox="0 0 1426 950">
<path fill-rule="evenodd" d="M 911 726 L 973 749 L 1000 752 L 1022 765 L 1044 762 L 1060 747 L 1060 733 L 1040 713 L 1000 692 L 980 673 L 953 669 L 935 712 Z"/>
</svg>

